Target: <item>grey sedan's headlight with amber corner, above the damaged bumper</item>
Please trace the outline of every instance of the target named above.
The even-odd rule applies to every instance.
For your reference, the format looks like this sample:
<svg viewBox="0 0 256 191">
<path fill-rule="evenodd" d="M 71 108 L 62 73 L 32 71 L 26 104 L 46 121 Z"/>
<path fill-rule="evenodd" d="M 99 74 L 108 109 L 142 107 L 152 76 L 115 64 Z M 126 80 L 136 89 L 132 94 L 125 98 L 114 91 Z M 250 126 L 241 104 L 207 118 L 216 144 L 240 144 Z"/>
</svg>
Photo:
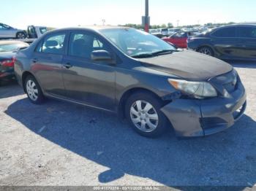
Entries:
<svg viewBox="0 0 256 191">
<path fill-rule="evenodd" d="M 208 82 L 189 82 L 182 79 L 168 79 L 170 85 L 195 98 L 216 97 L 217 91 Z"/>
</svg>

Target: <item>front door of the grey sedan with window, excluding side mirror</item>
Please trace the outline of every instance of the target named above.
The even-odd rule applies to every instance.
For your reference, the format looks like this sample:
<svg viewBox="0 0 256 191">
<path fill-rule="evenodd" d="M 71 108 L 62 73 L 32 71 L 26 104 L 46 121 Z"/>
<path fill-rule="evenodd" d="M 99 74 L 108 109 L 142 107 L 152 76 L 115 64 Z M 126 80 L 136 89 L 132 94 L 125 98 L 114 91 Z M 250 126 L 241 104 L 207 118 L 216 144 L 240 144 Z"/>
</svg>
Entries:
<svg viewBox="0 0 256 191">
<path fill-rule="evenodd" d="M 94 50 L 111 50 L 97 34 L 77 31 L 69 36 L 68 55 L 64 57 L 64 87 L 67 97 L 103 109 L 115 108 L 115 66 L 92 61 Z"/>
</svg>

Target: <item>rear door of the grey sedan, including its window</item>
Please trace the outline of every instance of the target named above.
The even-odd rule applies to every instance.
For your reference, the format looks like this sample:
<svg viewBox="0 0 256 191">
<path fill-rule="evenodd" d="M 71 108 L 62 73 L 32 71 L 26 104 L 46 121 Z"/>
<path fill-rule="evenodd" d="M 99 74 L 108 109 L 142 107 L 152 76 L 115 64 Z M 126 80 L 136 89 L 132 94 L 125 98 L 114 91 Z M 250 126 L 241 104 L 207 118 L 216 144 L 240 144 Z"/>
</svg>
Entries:
<svg viewBox="0 0 256 191">
<path fill-rule="evenodd" d="M 43 90 L 50 95 L 64 96 L 62 60 L 66 52 L 67 34 L 49 34 L 37 45 L 31 59 L 31 70 Z"/>
</svg>

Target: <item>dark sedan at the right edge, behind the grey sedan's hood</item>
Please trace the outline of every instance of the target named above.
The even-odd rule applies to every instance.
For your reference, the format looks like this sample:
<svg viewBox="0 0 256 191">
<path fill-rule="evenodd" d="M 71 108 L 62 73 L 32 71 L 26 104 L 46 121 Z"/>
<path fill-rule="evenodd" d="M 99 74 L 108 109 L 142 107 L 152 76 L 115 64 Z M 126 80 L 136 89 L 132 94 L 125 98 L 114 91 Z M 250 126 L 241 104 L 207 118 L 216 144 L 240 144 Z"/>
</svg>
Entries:
<svg viewBox="0 0 256 191">
<path fill-rule="evenodd" d="M 223 60 L 256 61 L 256 25 L 214 28 L 188 39 L 188 48 Z"/>
</svg>

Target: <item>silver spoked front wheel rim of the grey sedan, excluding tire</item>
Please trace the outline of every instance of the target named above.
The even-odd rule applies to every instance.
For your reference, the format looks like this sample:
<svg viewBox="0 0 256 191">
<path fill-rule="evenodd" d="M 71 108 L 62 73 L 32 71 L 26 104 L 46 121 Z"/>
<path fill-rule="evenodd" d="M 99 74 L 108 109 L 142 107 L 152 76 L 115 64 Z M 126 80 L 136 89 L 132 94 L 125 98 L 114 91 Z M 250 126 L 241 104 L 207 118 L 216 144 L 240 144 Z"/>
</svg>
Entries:
<svg viewBox="0 0 256 191">
<path fill-rule="evenodd" d="M 130 108 L 130 117 L 135 127 L 146 133 L 154 131 L 159 123 L 157 110 L 148 101 L 135 101 Z"/>
</svg>

